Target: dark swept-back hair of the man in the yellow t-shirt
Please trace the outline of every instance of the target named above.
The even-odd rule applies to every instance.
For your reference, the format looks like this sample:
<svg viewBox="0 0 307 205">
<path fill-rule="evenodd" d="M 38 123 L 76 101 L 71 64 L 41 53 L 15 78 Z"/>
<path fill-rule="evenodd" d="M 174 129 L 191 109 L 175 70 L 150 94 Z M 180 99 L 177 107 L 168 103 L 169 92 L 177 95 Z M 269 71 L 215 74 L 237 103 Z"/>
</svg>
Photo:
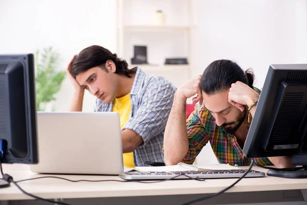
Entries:
<svg viewBox="0 0 307 205">
<path fill-rule="evenodd" d="M 71 74 L 76 77 L 79 73 L 85 72 L 93 67 L 99 66 L 106 70 L 104 64 L 107 60 L 112 60 L 116 66 L 116 74 L 131 77 L 135 70 L 128 69 L 126 60 L 117 57 L 116 54 L 101 46 L 90 46 L 83 49 L 71 63 Z"/>
</svg>

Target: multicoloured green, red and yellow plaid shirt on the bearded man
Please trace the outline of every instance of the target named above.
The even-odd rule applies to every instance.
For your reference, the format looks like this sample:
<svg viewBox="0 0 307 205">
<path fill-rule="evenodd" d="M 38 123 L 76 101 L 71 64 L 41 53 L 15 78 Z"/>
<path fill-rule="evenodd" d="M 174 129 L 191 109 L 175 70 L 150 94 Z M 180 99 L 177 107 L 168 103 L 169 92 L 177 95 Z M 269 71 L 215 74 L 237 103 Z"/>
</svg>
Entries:
<svg viewBox="0 0 307 205">
<path fill-rule="evenodd" d="M 260 91 L 255 89 L 258 93 Z M 250 128 L 252 116 L 249 114 L 245 126 Z M 236 141 L 236 137 L 218 127 L 215 118 L 204 105 L 195 106 L 186 121 L 189 138 L 189 151 L 182 160 L 185 163 L 193 163 L 202 148 L 210 141 L 212 150 L 221 163 L 229 165 L 249 166 L 250 159 L 247 158 Z M 258 165 L 273 165 L 268 158 L 254 158 Z"/>
</svg>

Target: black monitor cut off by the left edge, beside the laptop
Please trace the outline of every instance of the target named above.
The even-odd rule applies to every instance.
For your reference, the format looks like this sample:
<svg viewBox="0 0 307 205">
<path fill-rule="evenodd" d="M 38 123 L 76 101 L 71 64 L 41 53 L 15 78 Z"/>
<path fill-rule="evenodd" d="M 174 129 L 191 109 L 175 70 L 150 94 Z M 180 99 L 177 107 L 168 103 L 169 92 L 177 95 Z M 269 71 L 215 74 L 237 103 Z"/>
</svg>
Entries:
<svg viewBox="0 0 307 205">
<path fill-rule="evenodd" d="M 2 163 L 38 162 L 34 76 L 33 54 L 0 55 Z"/>
</svg>

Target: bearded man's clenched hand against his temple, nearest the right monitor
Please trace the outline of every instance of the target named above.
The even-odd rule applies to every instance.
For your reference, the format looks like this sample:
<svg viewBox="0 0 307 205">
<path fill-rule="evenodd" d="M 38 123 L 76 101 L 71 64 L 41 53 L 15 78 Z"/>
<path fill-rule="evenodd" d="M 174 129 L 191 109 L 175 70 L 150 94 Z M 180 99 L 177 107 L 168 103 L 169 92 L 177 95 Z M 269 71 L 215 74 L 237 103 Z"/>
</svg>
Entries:
<svg viewBox="0 0 307 205">
<path fill-rule="evenodd" d="M 237 81 L 232 84 L 229 89 L 228 101 L 240 111 L 244 111 L 244 106 L 251 106 L 256 100 L 258 100 L 259 94 L 250 88 L 248 85 Z"/>
</svg>

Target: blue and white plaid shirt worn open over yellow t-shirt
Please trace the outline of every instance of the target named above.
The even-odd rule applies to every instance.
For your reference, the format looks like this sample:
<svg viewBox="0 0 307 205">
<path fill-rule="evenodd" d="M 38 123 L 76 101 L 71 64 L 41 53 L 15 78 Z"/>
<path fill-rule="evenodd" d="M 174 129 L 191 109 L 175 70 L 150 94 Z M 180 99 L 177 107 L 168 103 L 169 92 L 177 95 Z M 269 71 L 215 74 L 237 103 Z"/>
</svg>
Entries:
<svg viewBox="0 0 307 205">
<path fill-rule="evenodd" d="M 143 138 L 144 143 L 134 151 L 134 162 L 135 166 L 148 166 L 144 161 L 164 162 L 164 129 L 176 88 L 162 77 L 146 75 L 140 68 L 136 69 L 130 91 L 129 119 L 122 130 L 133 130 Z M 95 112 L 112 112 L 113 104 L 97 98 Z"/>
</svg>

